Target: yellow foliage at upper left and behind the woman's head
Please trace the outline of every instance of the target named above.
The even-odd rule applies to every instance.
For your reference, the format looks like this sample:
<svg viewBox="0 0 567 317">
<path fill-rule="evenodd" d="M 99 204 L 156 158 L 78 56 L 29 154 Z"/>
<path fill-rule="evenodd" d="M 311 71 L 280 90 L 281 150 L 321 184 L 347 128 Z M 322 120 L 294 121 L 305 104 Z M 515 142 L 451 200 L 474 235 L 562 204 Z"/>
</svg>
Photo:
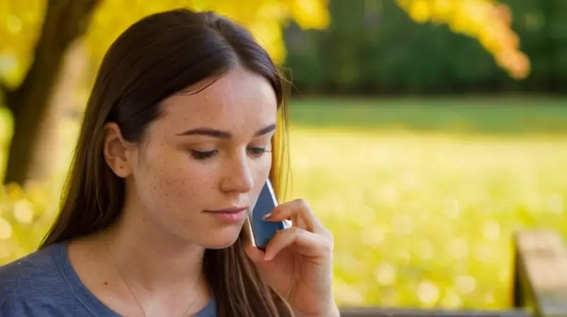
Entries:
<svg viewBox="0 0 567 317">
<path fill-rule="evenodd" d="M 26 74 L 38 37 L 45 0 L 0 0 L 0 80 L 17 86 Z M 85 35 L 96 69 L 111 42 L 143 16 L 171 8 L 213 10 L 246 25 L 278 63 L 285 58 L 281 27 L 293 20 L 302 28 L 326 28 L 330 23 L 327 0 L 106 0 L 96 9 Z"/>
</svg>

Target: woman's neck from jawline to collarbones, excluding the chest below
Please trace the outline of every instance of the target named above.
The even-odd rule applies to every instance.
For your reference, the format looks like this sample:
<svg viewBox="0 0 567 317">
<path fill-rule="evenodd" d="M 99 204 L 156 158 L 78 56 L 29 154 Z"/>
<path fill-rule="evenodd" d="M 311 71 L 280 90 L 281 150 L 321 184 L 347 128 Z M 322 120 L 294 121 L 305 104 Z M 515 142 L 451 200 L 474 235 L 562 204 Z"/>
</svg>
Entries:
<svg viewBox="0 0 567 317">
<path fill-rule="evenodd" d="M 150 292 L 187 289 L 204 282 L 204 249 L 172 236 L 142 214 L 124 210 L 100 236 L 126 282 L 133 279 Z"/>
</svg>

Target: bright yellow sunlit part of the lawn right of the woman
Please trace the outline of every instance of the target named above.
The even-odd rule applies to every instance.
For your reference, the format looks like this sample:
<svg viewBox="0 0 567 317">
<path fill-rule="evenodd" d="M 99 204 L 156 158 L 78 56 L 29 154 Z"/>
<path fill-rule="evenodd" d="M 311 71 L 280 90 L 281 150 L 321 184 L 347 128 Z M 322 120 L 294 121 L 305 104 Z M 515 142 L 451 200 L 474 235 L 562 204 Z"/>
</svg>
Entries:
<svg viewBox="0 0 567 317">
<path fill-rule="evenodd" d="M 496 307 L 512 231 L 567 232 L 567 139 L 292 134 L 293 195 L 335 233 L 337 299 Z"/>
</svg>

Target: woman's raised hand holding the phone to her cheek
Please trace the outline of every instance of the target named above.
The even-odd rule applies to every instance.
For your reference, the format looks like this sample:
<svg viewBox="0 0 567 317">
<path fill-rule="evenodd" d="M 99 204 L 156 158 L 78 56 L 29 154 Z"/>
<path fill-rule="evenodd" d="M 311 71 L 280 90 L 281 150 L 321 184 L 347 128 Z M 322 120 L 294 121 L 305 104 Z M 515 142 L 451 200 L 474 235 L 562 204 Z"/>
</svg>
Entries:
<svg viewBox="0 0 567 317">
<path fill-rule="evenodd" d="M 249 246 L 247 254 L 296 316 L 339 316 L 332 298 L 332 234 L 303 200 L 279 204 L 265 218 L 285 219 L 293 226 L 278 231 L 265 253 Z"/>
</svg>

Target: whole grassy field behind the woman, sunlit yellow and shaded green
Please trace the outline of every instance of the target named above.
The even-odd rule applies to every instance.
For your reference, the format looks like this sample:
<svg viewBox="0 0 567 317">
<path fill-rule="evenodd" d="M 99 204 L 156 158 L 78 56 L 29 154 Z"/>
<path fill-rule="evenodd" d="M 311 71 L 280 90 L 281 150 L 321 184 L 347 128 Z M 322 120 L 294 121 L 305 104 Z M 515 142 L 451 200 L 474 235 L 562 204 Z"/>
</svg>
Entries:
<svg viewBox="0 0 567 317">
<path fill-rule="evenodd" d="M 335 234 L 340 304 L 507 307 L 512 232 L 567 237 L 567 103 L 422 103 L 293 103 L 288 198 Z M 2 195 L 0 264 L 33 250 L 57 206 L 40 190 Z"/>
</svg>

